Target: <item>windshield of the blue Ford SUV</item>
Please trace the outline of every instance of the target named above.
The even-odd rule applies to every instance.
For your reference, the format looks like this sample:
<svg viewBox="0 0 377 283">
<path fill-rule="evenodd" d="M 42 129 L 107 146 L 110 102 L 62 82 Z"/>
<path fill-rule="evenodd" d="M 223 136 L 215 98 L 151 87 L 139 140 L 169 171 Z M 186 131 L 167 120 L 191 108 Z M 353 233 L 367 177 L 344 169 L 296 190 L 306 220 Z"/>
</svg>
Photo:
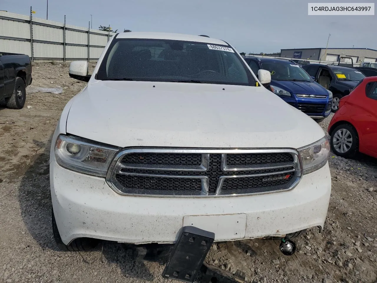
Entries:
<svg viewBox="0 0 377 283">
<path fill-rule="evenodd" d="M 264 62 L 261 63 L 262 69 L 271 73 L 271 80 L 297 80 L 313 82 L 311 77 L 300 66 L 290 62 Z"/>
</svg>

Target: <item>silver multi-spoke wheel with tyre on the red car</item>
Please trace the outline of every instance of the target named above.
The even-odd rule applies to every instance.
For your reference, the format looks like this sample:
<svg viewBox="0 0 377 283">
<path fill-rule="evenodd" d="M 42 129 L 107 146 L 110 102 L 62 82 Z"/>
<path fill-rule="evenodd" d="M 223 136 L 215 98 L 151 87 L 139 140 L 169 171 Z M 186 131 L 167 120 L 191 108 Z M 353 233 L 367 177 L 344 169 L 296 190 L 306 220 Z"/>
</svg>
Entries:
<svg viewBox="0 0 377 283">
<path fill-rule="evenodd" d="M 331 150 L 341 157 L 350 157 L 359 148 L 359 137 L 356 129 L 349 124 L 337 126 L 331 133 Z"/>
</svg>

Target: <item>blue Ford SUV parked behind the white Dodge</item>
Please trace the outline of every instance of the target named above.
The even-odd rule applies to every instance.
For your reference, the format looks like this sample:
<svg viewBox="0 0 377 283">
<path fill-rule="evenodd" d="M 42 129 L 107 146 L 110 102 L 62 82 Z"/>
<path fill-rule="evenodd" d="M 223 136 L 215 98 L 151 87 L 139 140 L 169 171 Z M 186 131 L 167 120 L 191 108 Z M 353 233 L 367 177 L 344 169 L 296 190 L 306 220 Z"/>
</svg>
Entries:
<svg viewBox="0 0 377 283">
<path fill-rule="evenodd" d="M 244 57 L 254 74 L 259 69 L 271 73 L 271 91 L 317 122 L 331 112 L 333 94 L 316 83 L 299 65 L 274 58 Z"/>
</svg>

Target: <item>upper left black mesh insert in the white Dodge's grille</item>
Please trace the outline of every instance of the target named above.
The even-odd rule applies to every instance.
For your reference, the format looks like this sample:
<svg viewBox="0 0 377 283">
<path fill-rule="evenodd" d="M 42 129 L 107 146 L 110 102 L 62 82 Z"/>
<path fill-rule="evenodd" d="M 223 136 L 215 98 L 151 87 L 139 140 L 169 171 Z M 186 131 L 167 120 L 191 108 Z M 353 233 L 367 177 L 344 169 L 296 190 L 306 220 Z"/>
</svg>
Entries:
<svg viewBox="0 0 377 283">
<path fill-rule="evenodd" d="M 194 153 L 130 153 L 123 157 L 122 164 L 200 166 L 202 155 Z"/>
</svg>

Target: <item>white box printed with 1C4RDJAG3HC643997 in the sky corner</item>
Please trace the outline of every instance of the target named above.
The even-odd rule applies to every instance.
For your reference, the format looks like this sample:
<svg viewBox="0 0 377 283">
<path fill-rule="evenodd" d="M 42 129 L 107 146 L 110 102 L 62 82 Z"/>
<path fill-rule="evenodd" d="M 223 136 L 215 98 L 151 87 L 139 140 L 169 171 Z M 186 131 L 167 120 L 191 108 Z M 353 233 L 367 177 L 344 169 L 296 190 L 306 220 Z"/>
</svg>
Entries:
<svg viewBox="0 0 377 283">
<path fill-rule="evenodd" d="M 308 15 L 374 15 L 374 3 L 308 3 Z"/>
</svg>

